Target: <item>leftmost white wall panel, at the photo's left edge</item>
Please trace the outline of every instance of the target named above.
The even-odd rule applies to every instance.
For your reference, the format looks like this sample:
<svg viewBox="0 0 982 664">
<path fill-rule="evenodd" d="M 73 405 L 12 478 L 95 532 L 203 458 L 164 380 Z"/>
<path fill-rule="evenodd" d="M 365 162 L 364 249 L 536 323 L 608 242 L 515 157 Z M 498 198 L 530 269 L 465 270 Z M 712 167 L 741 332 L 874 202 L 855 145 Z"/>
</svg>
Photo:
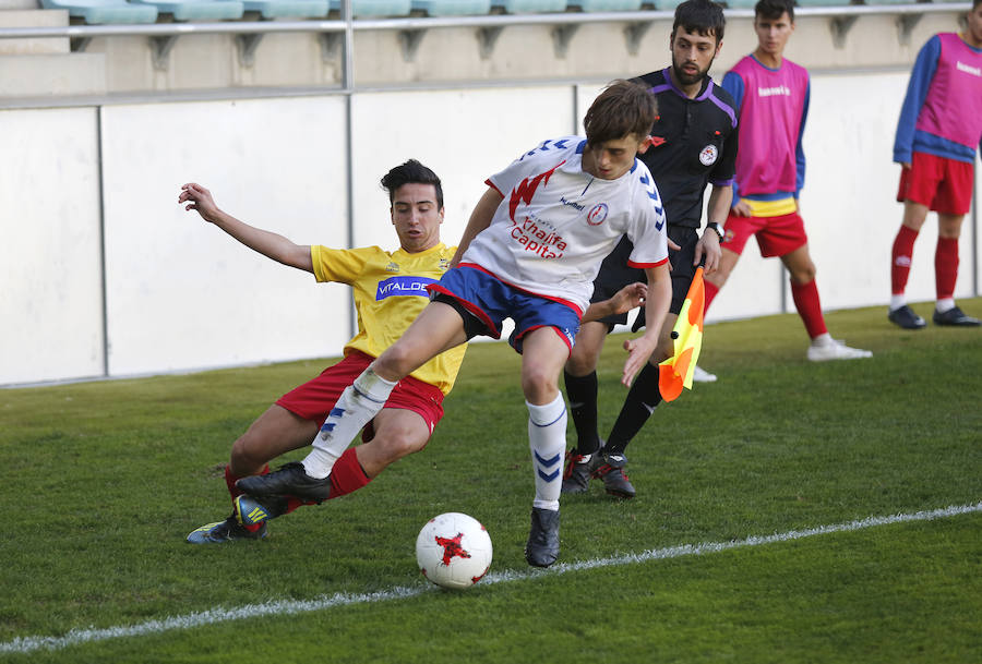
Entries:
<svg viewBox="0 0 982 664">
<path fill-rule="evenodd" d="M 103 373 L 96 110 L 0 111 L 0 384 Z"/>
</svg>

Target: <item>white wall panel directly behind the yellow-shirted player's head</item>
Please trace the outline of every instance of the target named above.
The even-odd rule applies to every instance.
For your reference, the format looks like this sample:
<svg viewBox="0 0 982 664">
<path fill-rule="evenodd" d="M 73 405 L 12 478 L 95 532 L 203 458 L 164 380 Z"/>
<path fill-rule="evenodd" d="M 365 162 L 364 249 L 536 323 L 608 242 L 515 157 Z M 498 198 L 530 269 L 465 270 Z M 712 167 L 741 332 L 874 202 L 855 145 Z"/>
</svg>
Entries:
<svg viewBox="0 0 982 664">
<path fill-rule="evenodd" d="M 488 176 L 542 140 L 568 134 L 572 113 L 568 86 L 357 95 L 355 244 L 396 245 L 379 180 L 409 158 L 440 176 L 446 210 L 441 234 L 456 244 Z"/>
</svg>

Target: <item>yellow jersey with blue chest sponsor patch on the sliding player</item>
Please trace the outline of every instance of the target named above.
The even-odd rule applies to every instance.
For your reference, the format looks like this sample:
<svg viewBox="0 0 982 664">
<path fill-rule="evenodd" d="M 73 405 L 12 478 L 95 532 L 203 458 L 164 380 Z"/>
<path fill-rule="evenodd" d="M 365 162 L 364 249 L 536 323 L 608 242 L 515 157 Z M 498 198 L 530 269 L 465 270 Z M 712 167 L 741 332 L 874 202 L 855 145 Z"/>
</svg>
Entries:
<svg viewBox="0 0 982 664">
<path fill-rule="evenodd" d="M 378 358 L 402 337 L 430 301 L 427 286 L 440 280 L 455 251 L 443 243 L 419 253 L 311 246 L 318 281 L 347 283 L 354 291 L 358 334 L 345 345 L 345 355 L 359 350 Z M 410 375 L 450 394 L 466 349 L 462 345 L 440 353 Z"/>
</svg>

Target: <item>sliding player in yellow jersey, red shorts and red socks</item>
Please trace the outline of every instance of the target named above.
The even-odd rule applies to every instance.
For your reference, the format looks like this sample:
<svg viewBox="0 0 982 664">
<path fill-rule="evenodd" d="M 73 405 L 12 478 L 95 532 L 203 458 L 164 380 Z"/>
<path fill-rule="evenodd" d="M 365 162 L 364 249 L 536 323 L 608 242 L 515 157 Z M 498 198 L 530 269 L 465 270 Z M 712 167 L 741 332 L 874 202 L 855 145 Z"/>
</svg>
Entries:
<svg viewBox="0 0 982 664">
<path fill-rule="evenodd" d="M 429 302 L 427 286 L 439 281 L 450 266 L 456 248 L 440 241 L 440 178 L 410 159 L 388 171 L 382 186 L 388 192 L 392 224 L 399 238 L 399 249 L 393 252 L 378 246 L 344 250 L 295 244 L 223 212 L 200 184 L 181 188 L 178 202 L 185 209 L 197 212 L 246 246 L 312 273 L 318 281 L 351 286 L 358 311 L 358 334 L 345 346 L 344 359 L 280 397 L 235 442 L 225 469 L 233 514 L 202 526 L 188 535 L 188 542 L 259 540 L 266 534 L 266 519 L 311 503 L 289 496 L 258 502 L 242 495 L 236 481 L 264 474 L 272 459 L 311 444 L 342 391 L 403 335 Z M 611 300 L 591 305 L 590 315 L 628 311 L 644 294 L 643 285 L 632 285 Z M 364 427 L 363 443 L 347 448 L 335 461 L 328 499 L 361 488 L 393 461 L 426 447 L 443 416 L 443 398 L 454 385 L 465 349 L 462 345 L 440 353 L 398 382 L 385 407 Z"/>
</svg>

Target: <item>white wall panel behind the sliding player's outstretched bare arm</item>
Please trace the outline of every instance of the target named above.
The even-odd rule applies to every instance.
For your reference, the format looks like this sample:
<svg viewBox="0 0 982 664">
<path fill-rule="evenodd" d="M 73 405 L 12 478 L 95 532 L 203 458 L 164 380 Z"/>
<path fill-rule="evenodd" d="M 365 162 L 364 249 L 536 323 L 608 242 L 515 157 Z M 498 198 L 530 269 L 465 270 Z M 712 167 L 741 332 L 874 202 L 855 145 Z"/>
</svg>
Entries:
<svg viewBox="0 0 982 664">
<path fill-rule="evenodd" d="M 177 197 L 195 181 L 240 219 L 344 246 L 343 109 L 314 97 L 104 110 L 110 374 L 340 351 L 347 287 L 246 249 Z"/>
</svg>

